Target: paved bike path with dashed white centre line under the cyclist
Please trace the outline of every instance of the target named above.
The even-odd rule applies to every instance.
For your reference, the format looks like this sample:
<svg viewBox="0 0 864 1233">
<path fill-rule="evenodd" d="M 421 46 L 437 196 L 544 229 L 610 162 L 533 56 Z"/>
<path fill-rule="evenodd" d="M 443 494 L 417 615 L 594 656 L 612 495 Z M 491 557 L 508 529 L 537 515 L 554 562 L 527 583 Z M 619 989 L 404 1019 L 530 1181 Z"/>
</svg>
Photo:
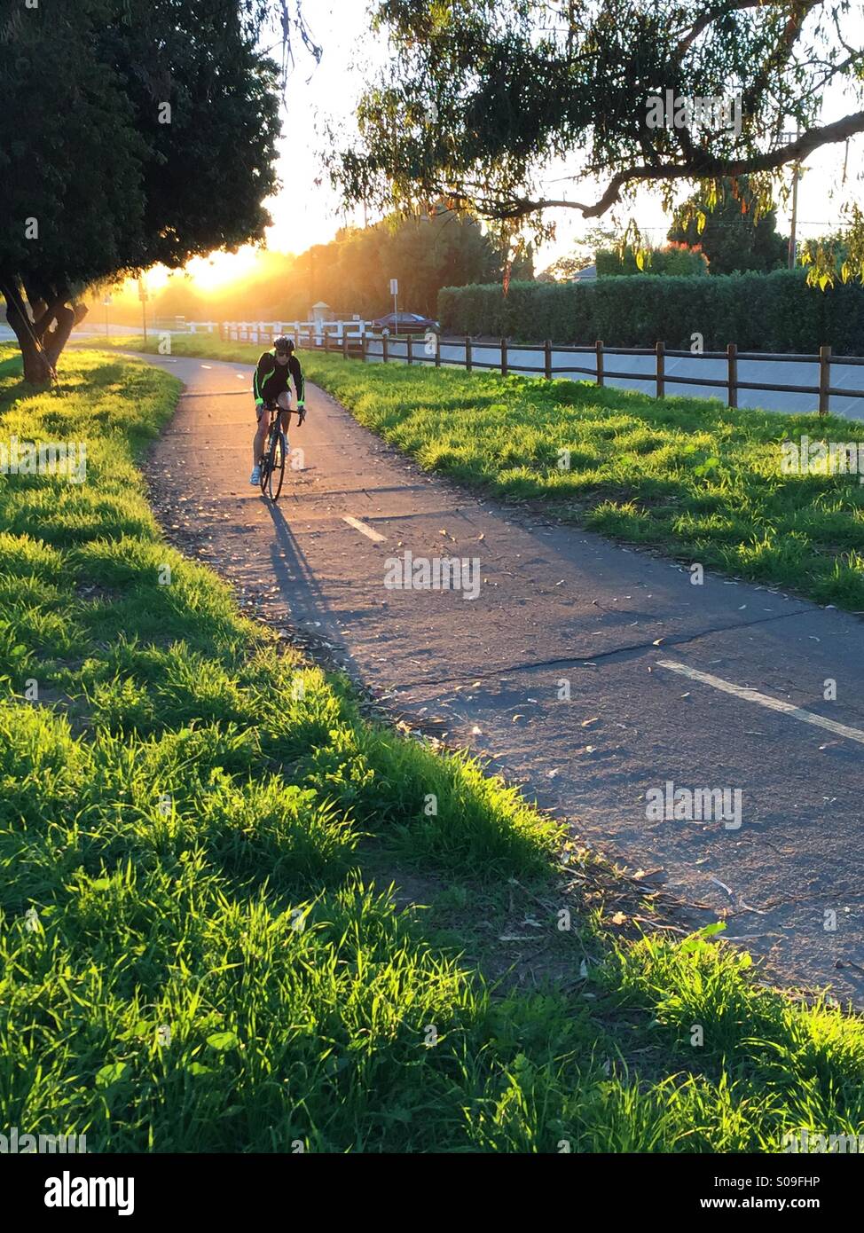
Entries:
<svg viewBox="0 0 864 1233">
<path fill-rule="evenodd" d="M 274 507 L 248 482 L 251 369 L 142 359 L 186 385 L 149 473 L 201 560 L 410 721 L 492 757 L 579 842 L 726 920 L 770 978 L 864 1005 L 858 616 L 711 575 L 694 586 L 669 561 L 478 499 L 314 386 Z M 388 588 L 407 551 L 478 573 L 462 591 Z M 737 792 L 740 817 L 661 820 L 667 783 L 730 805 Z"/>
</svg>

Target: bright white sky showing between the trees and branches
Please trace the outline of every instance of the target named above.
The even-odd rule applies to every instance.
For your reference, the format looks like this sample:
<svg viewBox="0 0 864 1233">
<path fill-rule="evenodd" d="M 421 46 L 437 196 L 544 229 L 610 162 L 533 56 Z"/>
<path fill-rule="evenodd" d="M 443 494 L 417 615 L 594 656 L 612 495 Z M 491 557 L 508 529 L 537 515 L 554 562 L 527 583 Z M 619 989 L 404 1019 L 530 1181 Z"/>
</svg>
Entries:
<svg viewBox="0 0 864 1233">
<path fill-rule="evenodd" d="M 267 202 L 274 224 L 267 231 L 266 243 L 271 249 L 301 253 L 311 244 L 327 243 L 336 229 L 351 222 L 362 226 L 362 212 L 344 215 L 339 201 L 330 190 L 320 159 L 322 123 L 336 122 L 339 131 L 350 133 L 354 128 L 354 107 L 362 90 L 364 79 L 372 75 L 377 64 L 387 54 L 386 44 L 372 39 L 369 33 L 366 0 L 314 0 L 306 4 L 307 21 L 314 41 L 323 47 L 318 65 L 304 52 L 296 49 L 296 64 L 291 74 L 283 113 L 283 137 L 279 147 L 279 173 L 282 189 Z M 852 18 L 850 18 L 852 21 Z M 860 17 L 855 18 L 860 26 Z M 852 37 L 860 30 L 849 30 Z M 839 92 L 828 100 L 826 120 L 837 118 L 849 110 L 848 100 Z M 844 162 L 849 174 L 864 165 L 864 139 L 854 138 L 847 152 L 844 144 L 826 147 L 813 154 L 799 182 L 799 239 L 806 239 L 834 229 L 839 224 L 839 197 L 836 189 L 842 181 Z M 578 187 L 562 184 L 572 168 L 566 162 L 548 169 L 547 186 L 551 195 L 589 200 L 592 189 L 599 195 L 601 186 L 582 181 Z M 682 190 L 685 196 L 689 189 Z M 611 222 L 606 215 L 601 219 L 585 221 L 579 211 L 557 210 L 547 217 L 556 223 L 556 238 L 546 244 L 535 258 L 535 269 L 541 270 L 556 258 L 571 253 L 574 244 L 589 227 Z M 635 217 L 650 243 L 661 244 L 666 239 L 669 217 L 656 196 L 640 191 L 635 207 L 622 211 L 616 221 L 626 223 Z M 370 222 L 375 219 L 369 218 Z M 789 211 L 780 207 L 778 227 L 789 233 Z M 240 250 L 237 255 L 217 255 L 212 264 L 195 261 L 190 272 L 202 290 L 218 285 L 234 275 L 243 275 L 254 264 L 254 253 Z M 386 271 L 385 271 L 386 276 Z"/>
</svg>

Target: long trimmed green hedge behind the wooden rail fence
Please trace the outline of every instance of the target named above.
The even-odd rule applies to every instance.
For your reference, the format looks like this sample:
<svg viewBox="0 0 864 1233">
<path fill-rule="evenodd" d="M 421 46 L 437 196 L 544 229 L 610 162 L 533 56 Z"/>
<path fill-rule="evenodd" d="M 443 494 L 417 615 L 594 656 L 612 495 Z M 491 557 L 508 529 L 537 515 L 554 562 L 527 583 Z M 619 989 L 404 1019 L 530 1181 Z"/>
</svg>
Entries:
<svg viewBox="0 0 864 1233">
<path fill-rule="evenodd" d="M 609 346 L 690 348 L 737 343 L 744 351 L 806 351 L 828 344 L 838 355 L 864 355 L 864 286 L 809 287 L 804 270 L 673 277 L 637 274 L 592 282 L 511 282 L 442 287 L 442 330 L 523 342 Z"/>
</svg>

